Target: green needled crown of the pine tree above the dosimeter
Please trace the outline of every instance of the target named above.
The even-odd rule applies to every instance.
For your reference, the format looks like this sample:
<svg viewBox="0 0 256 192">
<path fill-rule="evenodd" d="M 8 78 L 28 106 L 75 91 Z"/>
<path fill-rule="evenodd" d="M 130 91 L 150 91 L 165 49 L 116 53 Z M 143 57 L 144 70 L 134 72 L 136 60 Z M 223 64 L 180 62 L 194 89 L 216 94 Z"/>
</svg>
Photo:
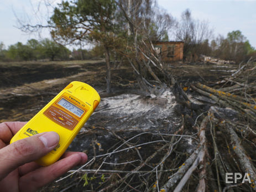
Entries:
<svg viewBox="0 0 256 192">
<path fill-rule="evenodd" d="M 55 7 L 49 23 L 53 38 L 61 44 L 96 40 L 108 44 L 107 31 L 113 27 L 114 0 L 62 1 Z"/>
</svg>

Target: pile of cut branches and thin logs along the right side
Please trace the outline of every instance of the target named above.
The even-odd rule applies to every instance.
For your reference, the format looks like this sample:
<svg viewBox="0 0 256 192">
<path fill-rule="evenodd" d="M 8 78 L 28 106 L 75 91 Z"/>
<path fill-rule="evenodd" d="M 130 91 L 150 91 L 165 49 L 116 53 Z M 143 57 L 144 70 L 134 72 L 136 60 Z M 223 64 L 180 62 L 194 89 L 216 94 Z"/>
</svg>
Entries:
<svg viewBox="0 0 256 192">
<path fill-rule="evenodd" d="M 198 146 L 204 148 L 205 159 L 201 158 L 201 165 L 196 160 L 193 164 L 197 166 L 196 171 L 193 169 L 198 175 L 197 191 L 255 190 L 255 74 L 255 66 L 248 62 L 239 66 L 231 76 L 224 77 L 223 81 L 211 82 L 211 87 L 201 83 L 190 86 L 198 94 L 194 97 L 196 102 L 203 100 L 208 103 L 201 103 L 198 110 L 207 111 L 208 115 L 200 118 L 202 121 L 198 130 Z M 177 90 L 179 95 L 185 94 L 181 88 Z M 183 103 L 193 110 L 189 97 L 183 97 Z M 234 182 L 233 178 L 229 182 L 232 185 L 227 182 L 226 173 L 241 173 L 249 177 L 246 182 L 242 179 Z M 186 174 L 191 173 L 187 170 Z M 187 183 L 186 174 L 180 180 L 183 185 Z M 182 189 L 180 183 L 174 191 Z"/>
</svg>

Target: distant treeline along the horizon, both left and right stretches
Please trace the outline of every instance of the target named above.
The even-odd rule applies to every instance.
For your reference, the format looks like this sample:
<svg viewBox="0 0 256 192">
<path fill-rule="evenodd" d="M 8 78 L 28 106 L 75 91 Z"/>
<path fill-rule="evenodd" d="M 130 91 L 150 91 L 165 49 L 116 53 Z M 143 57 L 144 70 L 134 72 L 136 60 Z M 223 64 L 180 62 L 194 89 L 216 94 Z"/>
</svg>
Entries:
<svg viewBox="0 0 256 192">
<path fill-rule="evenodd" d="M 186 38 L 184 42 L 185 61 L 196 61 L 200 55 L 236 62 L 256 57 L 256 50 L 239 30 L 228 33 L 227 38 L 219 35 L 210 42 L 205 39 L 200 43 L 192 43 Z M 114 56 L 114 52 L 111 56 Z M 30 39 L 27 44 L 17 42 L 17 44 L 8 46 L 7 49 L 3 42 L 0 42 L 0 61 L 88 60 L 103 57 L 104 50 L 100 45 L 96 45 L 93 49 L 73 49 L 71 51 L 49 39 L 41 41 Z"/>
</svg>

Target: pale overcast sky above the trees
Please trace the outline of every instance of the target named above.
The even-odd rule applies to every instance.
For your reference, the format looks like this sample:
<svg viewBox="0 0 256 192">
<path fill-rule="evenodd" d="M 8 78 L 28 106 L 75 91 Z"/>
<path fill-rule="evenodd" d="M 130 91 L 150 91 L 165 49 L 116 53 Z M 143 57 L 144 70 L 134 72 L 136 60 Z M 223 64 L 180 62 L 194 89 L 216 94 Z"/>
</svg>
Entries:
<svg viewBox="0 0 256 192">
<path fill-rule="evenodd" d="M 60 0 L 50 0 L 60 2 Z M 93 1 L 93 0 L 92 0 Z M 0 0 L 0 42 L 6 46 L 20 42 L 27 42 L 28 39 L 36 38 L 38 35 L 24 34 L 17 26 L 17 18 L 24 20 L 27 15 L 34 15 L 38 12 L 36 6 L 32 9 L 32 4 L 38 4 L 40 0 Z M 41 1 L 43 2 L 43 1 Z M 226 36 L 233 30 L 241 30 L 247 37 L 250 44 L 256 47 L 256 0 L 247 1 L 227 1 L 227 0 L 158 0 L 160 7 L 166 9 L 173 17 L 179 19 L 181 13 L 189 8 L 192 17 L 200 20 L 207 20 L 214 30 L 215 36 L 218 34 Z M 41 4 L 40 8 L 43 8 Z M 46 20 L 46 10 L 41 20 Z M 32 19 L 35 19 L 33 16 Z M 41 36 L 49 38 L 49 31 L 45 30 Z"/>
</svg>

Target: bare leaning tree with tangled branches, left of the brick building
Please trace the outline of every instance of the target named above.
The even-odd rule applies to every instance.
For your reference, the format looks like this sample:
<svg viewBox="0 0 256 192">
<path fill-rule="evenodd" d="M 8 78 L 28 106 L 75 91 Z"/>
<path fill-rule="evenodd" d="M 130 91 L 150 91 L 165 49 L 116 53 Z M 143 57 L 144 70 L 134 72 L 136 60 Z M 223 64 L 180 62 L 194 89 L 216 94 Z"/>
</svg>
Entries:
<svg viewBox="0 0 256 192">
<path fill-rule="evenodd" d="M 153 86 L 145 79 L 145 68 L 156 82 L 161 83 L 156 75 L 156 71 L 160 71 L 164 76 L 169 77 L 164 71 L 163 63 L 161 63 L 153 46 L 153 41 L 161 40 L 168 34 L 174 19 L 170 14 L 160 10 L 154 1 L 119 1 L 119 9 L 121 10 L 125 22 L 128 23 L 130 31 L 130 39 L 125 52 L 128 55 L 128 61 L 134 68 L 135 74 L 140 88 L 145 92 L 152 92 Z M 129 34 L 129 33 L 128 33 Z M 156 71 L 154 70 L 156 69 Z"/>
</svg>

